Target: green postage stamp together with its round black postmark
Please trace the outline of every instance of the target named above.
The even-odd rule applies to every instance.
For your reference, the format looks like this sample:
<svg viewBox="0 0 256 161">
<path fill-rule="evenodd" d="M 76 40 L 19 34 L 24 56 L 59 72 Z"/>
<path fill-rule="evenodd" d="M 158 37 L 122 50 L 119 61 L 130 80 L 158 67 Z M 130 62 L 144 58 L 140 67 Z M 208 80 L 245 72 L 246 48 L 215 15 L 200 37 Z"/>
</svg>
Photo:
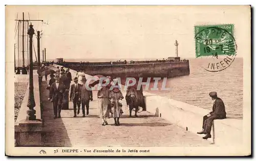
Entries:
<svg viewBox="0 0 256 161">
<path fill-rule="evenodd" d="M 204 57 L 204 69 L 218 72 L 228 68 L 237 55 L 233 24 L 195 26 L 196 58 Z"/>
</svg>

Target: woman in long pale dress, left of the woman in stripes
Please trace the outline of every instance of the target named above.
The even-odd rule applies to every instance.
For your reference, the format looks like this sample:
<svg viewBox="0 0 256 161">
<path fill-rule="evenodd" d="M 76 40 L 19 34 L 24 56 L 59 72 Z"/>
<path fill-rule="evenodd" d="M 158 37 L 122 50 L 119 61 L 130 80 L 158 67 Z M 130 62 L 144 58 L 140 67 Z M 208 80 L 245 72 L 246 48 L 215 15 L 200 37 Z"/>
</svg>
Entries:
<svg viewBox="0 0 256 161">
<path fill-rule="evenodd" d="M 106 83 L 106 81 L 102 81 L 103 84 Z M 97 94 L 99 101 L 98 101 L 98 111 L 99 111 L 99 117 L 102 119 L 102 126 L 108 125 L 108 122 L 106 121 L 106 118 L 109 116 L 109 87 L 107 86 L 101 86 L 100 90 Z"/>
</svg>

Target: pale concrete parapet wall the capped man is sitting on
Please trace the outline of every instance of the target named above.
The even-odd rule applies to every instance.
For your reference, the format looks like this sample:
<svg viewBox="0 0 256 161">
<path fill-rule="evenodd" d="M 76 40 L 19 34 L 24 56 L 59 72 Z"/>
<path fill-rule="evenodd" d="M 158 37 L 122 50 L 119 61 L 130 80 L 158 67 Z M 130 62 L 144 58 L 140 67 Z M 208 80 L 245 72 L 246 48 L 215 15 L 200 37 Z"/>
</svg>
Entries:
<svg viewBox="0 0 256 161">
<path fill-rule="evenodd" d="M 202 129 L 203 116 L 209 113 L 206 109 L 174 99 L 150 93 L 144 95 L 148 112 L 158 114 L 163 119 L 194 133 Z M 215 120 L 211 130 L 212 138 L 209 140 L 217 146 L 242 145 L 242 123 L 243 120 L 240 119 Z"/>
</svg>

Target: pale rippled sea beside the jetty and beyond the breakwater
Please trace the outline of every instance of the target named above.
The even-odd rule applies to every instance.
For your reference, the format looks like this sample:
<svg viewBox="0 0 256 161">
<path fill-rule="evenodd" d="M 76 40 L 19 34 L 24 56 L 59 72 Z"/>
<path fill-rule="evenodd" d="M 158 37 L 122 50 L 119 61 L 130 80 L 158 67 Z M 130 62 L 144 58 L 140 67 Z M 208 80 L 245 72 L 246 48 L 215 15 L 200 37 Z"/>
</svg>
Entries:
<svg viewBox="0 0 256 161">
<path fill-rule="evenodd" d="M 156 59 L 126 59 L 126 61 L 156 60 Z M 158 59 L 159 60 L 159 59 Z M 233 63 L 223 71 L 209 72 L 204 70 L 203 59 L 188 59 L 190 74 L 168 78 L 165 87 L 169 90 L 150 90 L 154 82 L 150 84 L 149 90 L 143 87 L 144 91 L 154 93 L 167 98 L 179 100 L 200 108 L 211 110 L 212 101 L 209 92 L 216 91 L 226 108 L 227 117 L 243 119 L 243 58 L 236 58 Z M 71 62 L 103 62 L 118 61 L 117 59 L 81 59 L 68 60 Z M 121 59 L 124 61 L 124 59 Z M 159 81 L 158 88 L 161 89 L 163 81 Z"/>
</svg>

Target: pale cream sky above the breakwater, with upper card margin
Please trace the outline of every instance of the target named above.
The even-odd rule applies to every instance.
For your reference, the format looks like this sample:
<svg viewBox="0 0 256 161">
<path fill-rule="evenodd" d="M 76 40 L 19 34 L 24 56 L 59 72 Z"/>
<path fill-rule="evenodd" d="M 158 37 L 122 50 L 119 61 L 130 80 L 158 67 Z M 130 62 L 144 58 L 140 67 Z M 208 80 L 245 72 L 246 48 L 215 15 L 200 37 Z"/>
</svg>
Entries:
<svg viewBox="0 0 256 161">
<path fill-rule="evenodd" d="M 162 59 L 195 58 L 195 25 L 234 24 L 237 57 L 250 52 L 250 16 L 246 6 L 7 6 L 6 39 L 17 43 L 15 19 L 42 31 L 40 48 L 47 58 Z M 48 24 L 46 24 L 48 23 Z M 37 39 L 33 38 L 35 51 Z M 11 50 L 10 50 L 11 52 Z M 33 51 L 34 56 L 34 51 Z M 35 59 L 34 59 L 35 60 Z"/>
</svg>

